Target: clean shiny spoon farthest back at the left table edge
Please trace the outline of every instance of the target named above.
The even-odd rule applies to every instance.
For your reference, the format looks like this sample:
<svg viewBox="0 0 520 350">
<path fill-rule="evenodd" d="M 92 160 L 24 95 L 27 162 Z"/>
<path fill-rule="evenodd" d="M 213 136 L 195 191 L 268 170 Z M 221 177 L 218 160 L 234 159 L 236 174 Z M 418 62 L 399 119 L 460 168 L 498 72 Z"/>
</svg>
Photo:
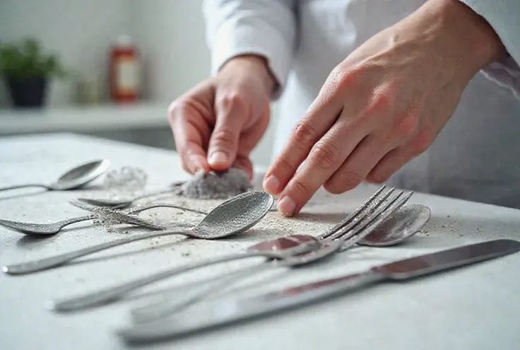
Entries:
<svg viewBox="0 0 520 350">
<path fill-rule="evenodd" d="M 52 184 L 25 184 L 25 185 L 14 185 L 8 187 L 0 187 L 0 191 L 7 191 L 8 189 L 18 189 L 23 187 L 44 187 L 49 191 L 64 191 L 66 189 L 74 189 L 87 184 L 90 181 L 95 180 L 97 177 L 105 173 L 110 167 L 110 161 L 103 159 L 100 161 L 93 161 L 78 165 L 63 175 L 61 175 L 56 182 Z"/>
</svg>

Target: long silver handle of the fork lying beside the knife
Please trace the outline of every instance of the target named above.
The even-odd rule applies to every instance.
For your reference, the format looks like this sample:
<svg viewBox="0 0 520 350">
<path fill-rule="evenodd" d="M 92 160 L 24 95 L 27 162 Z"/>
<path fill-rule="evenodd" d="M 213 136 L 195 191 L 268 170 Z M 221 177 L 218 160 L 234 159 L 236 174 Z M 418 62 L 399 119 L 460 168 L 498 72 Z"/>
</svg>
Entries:
<svg viewBox="0 0 520 350">
<path fill-rule="evenodd" d="M 216 257 L 214 259 L 203 260 L 202 262 L 194 262 L 192 264 L 187 264 L 182 267 L 166 269 L 155 274 L 150 274 L 139 279 L 134 279 L 134 281 L 129 281 L 127 283 L 119 284 L 117 286 L 112 286 L 99 291 L 85 293 L 83 295 L 67 298 L 61 301 L 52 301 L 49 305 L 50 308 L 52 308 L 55 311 L 79 310 L 95 305 L 102 305 L 110 301 L 117 301 L 117 299 L 121 298 L 121 296 L 124 293 L 133 291 L 134 289 L 137 289 L 141 286 L 146 286 L 147 284 L 151 284 L 162 279 L 166 279 L 170 276 L 175 276 L 177 274 L 182 274 L 184 272 L 189 272 L 191 270 L 198 269 L 199 267 L 207 267 L 212 264 L 230 262 L 232 260 L 245 259 L 247 257 L 278 257 L 279 255 L 280 252 L 247 252 L 237 253 L 234 255 L 225 255 L 223 257 Z"/>
</svg>

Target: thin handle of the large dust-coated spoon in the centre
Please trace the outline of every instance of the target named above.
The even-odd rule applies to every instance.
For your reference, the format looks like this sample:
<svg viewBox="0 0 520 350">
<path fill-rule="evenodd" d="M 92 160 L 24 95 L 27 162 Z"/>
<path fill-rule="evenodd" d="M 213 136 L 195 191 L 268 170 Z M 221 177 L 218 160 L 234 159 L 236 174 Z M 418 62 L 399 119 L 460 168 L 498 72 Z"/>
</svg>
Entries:
<svg viewBox="0 0 520 350">
<path fill-rule="evenodd" d="M 111 240 L 109 242 L 100 243 L 90 247 L 85 247 L 80 250 L 74 250 L 73 252 L 67 252 L 60 255 L 54 255 L 53 257 L 46 257 L 44 259 L 33 260 L 32 262 L 23 262 L 21 264 L 7 265 L 2 268 L 6 274 L 29 274 L 31 272 L 39 272 L 51 267 L 57 267 L 61 264 L 76 259 L 78 257 L 84 257 L 85 255 L 100 252 L 101 250 L 107 250 L 118 245 L 124 245 L 138 240 L 146 240 L 148 238 L 161 237 L 164 235 L 186 235 L 190 233 L 189 230 L 183 231 L 158 231 L 144 233 L 143 235 L 132 235 L 131 237 L 121 238 L 119 240 Z"/>
</svg>

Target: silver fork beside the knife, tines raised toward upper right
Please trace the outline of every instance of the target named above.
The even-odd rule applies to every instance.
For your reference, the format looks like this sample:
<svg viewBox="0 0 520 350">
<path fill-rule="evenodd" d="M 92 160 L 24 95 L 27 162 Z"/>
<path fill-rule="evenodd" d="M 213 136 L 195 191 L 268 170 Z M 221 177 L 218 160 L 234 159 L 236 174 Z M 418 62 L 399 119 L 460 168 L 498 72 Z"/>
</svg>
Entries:
<svg viewBox="0 0 520 350">
<path fill-rule="evenodd" d="M 302 244 L 292 247 L 288 250 L 280 251 L 259 251 L 247 252 L 242 254 L 227 255 L 223 257 L 216 257 L 213 259 L 204 260 L 202 262 L 195 262 L 183 267 L 175 267 L 166 269 L 161 272 L 150 274 L 148 276 L 134 279 L 133 281 L 112 286 L 94 291 L 92 293 L 85 293 L 80 296 L 67 298 L 61 301 L 51 301 L 48 306 L 56 311 L 71 311 L 81 308 L 87 308 L 94 305 L 116 301 L 121 298 L 124 293 L 134 291 L 137 288 L 146 286 L 170 276 L 189 272 L 199 267 L 207 267 L 211 264 L 218 264 L 221 262 L 229 262 L 237 259 L 244 259 L 248 257 L 266 257 L 267 259 L 278 259 L 280 264 L 278 266 L 296 266 L 301 264 L 309 264 L 332 255 L 339 250 L 346 250 L 358 243 L 362 238 L 369 235 L 374 228 L 388 218 L 394 211 L 405 204 L 411 197 L 413 192 L 409 192 L 403 197 L 403 191 L 397 194 L 394 199 L 386 200 L 394 192 L 394 187 L 391 187 L 381 198 L 374 202 L 374 200 L 386 188 L 386 185 L 380 187 L 377 192 L 367 199 L 363 204 L 358 206 L 353 213 L 348 215 L 345 219 L 337 223 L 335 226 L 327 230 L 325 233 L 314 238 L 314 243 L 318 242 L 319 248 L 316 244 Z M 344 245 L 344 248 L 343 248 Z M 308 254 L 304 254 L 308 253 Z M 301 255 L 298 257 L 297 255 Z M 286 260 L 286 262 L 283 262 Z"/>
</svg>

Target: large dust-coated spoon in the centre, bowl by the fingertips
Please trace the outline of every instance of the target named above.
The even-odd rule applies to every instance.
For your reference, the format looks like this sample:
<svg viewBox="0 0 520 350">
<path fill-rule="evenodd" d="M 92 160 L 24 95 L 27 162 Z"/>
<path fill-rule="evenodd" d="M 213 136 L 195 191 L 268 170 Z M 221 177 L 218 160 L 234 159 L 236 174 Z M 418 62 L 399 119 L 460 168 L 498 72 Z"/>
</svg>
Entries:
<svg viewBox="0 0 520 350">
<path fill-rule="evenodd" d="M 133 235 L 131 237 L 120 238 L 118 240 L 85 247 L 73 252 L 55 255 L 54 257 L 4 266 L 2 271 L 6 274 L 28 274 L 30 272 L 38 272 L 44 269 L 49 269 L 50 267 L 57 267 L 71 261 L 72 259 L 76 259 L 77 257 L 84 257 L 85 255 L 99 252 L 101 250 L 107 250 L 111 247 L 165 235 L 186 235 L 191 238 L 205 240 L 228 237 L 229 235 L 247 231 L 249 228 L 256 225 L 256 223 L 259 223 L 259 221 L 266 216 L 268 210 L 273 205 L 273 202 L 273 196 L 267 192 L 245 192 L 226 200 L 210 211 L 201 222 L 189 228 L 178 228 L 177 230 L 155 231 L 143 235 Z"/>
</svg>

